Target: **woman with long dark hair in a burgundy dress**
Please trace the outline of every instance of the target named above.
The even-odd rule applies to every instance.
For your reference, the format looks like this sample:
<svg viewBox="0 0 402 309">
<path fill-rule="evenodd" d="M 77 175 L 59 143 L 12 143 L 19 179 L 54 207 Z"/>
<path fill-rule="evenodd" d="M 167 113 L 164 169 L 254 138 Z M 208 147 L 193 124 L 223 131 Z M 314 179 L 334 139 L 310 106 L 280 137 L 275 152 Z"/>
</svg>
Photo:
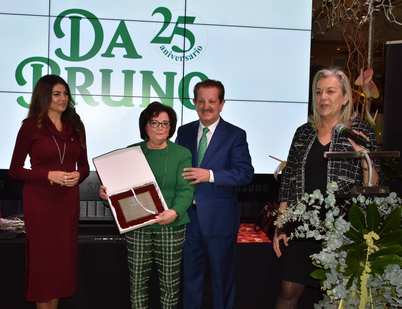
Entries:
<svg viewBox="0 0 402 309">
<path fill-rule="evenodd" d="M 25 180 L 25 297 L 38 309 L 55 309 L 60 297 L 77 290 L 78 182 L 88 176 L 89 165 L 74 105 L 61 77 L 40 78 L 10 165 L 10 177 Z M 27 155 L 31 169 L 24 168 Z"/>
</svg>

